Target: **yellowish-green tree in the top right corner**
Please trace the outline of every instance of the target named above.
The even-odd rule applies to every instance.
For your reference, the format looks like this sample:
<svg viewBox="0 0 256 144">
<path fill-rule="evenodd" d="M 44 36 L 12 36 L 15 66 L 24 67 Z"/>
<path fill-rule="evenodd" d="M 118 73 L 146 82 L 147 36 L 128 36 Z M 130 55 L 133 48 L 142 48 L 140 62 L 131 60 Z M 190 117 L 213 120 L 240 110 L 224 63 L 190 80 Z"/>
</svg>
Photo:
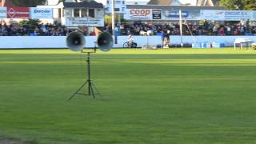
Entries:
<svg viewBox="0 0 256 144">
<path fill-rule="evenodd" d="M 220 0 L 219 5 L 228 10 L 256 10 L 256 0 Z"/>
</svg>

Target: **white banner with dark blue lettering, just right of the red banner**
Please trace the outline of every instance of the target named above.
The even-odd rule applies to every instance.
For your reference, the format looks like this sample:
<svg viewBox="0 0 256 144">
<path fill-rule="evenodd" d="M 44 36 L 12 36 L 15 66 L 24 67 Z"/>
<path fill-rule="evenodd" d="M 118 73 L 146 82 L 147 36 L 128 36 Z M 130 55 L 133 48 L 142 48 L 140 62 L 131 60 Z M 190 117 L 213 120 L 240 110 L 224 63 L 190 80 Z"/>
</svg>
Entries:
<svg viewBox="0 0 256 144">
<path fill-rule="evenodd" d="M 30 18 L 53 18 L 53 9 L 30 7 Z"/>
</svg>

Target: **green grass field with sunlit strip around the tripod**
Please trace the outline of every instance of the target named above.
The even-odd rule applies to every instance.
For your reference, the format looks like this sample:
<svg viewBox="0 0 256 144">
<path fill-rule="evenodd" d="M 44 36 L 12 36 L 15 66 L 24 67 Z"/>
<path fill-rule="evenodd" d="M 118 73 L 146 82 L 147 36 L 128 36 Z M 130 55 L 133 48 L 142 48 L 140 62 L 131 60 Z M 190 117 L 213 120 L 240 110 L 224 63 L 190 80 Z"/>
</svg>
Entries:
<svg viewBox="0 0 256 144">
<path fill-rule="evenodd" d="M 0 50 L 0 143 L 256 143 L 256 50 Z"/>
</svg>

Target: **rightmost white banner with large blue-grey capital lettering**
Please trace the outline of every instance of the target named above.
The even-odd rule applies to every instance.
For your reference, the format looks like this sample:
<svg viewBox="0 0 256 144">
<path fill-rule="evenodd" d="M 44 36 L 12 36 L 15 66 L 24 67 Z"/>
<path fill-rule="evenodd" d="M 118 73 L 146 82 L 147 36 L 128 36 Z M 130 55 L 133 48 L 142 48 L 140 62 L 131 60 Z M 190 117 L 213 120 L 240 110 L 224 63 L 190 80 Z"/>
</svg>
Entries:
<svg viewBox="0 0 256 144">
<path fill-rule="evenodd" d="M 245 21 L 251 19 L 253 11 L 249 10 L 226 10 L 225 20 L 226 21 Z"/>
</svg>

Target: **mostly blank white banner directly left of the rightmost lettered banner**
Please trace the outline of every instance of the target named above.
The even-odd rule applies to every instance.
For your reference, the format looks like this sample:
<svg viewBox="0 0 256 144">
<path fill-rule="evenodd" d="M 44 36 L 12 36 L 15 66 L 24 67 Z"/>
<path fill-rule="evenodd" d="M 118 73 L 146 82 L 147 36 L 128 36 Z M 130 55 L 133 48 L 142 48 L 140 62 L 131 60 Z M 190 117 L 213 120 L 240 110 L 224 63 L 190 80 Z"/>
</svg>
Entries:
<svg viewBox="0 0 256 144">
<path fill-rule="evenodd" d="M 201 18 L 208 20 L 225 20 L 225 10 L 201 10 Z"/>
</svg>

